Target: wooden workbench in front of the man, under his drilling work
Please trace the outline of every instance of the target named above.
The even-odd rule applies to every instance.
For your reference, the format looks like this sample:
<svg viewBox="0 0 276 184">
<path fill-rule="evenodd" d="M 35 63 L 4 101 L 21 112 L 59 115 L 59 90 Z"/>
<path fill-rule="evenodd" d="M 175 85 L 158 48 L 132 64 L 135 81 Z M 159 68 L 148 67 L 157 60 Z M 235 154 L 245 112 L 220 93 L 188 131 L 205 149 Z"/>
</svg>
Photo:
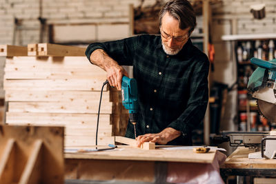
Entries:
<svg viewBox="0 0 276 184">
<path fill-rule="evenodd" d="M 193 150 L 142 150 L 120 145 L 115 150 L 65 154 L 66 182 L 112 181 L 166 183 L 170 163 L 210 165 L 217 151 L 197 154 Z"/>
</svg>

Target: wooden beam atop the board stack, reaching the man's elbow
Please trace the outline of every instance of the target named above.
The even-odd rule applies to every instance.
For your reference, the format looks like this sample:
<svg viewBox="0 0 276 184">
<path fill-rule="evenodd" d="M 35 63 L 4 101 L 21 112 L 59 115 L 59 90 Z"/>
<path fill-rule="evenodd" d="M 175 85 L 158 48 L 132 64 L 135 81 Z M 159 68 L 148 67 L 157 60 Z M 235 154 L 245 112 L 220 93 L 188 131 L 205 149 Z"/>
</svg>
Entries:
<svg viewBox="0 0 276 184">
<path fill-rule="evenodd" d="M 39 56 L 85 56 L 86 48 L 51 43 L 39 43 Z"/>
</svg>

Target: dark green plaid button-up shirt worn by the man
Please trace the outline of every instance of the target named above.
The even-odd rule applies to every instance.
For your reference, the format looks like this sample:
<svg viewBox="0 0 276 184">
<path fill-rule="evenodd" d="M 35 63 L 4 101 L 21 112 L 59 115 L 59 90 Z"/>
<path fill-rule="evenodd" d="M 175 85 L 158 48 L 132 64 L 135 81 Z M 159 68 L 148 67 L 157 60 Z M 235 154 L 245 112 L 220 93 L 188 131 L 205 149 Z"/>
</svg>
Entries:
<svg viewBox="0 0 276 184">
<path fill-rule="evenodd" d="M 209 61 L 188 40 L 182 50 L 166 54 L 158 35 L 139 35 L 118 41 L 92 43 L 86 56 L 105 50 L 119 65 L 133 65 L 137 80 L 139 114 L 137 136 L 159 133 L 166 127 L 182 132 L 168 145 L 191 145 L 191 132 L 204 119 L 208 103 Z M 134 138 L 128 123 L 126 136 Z"/>
</svg>

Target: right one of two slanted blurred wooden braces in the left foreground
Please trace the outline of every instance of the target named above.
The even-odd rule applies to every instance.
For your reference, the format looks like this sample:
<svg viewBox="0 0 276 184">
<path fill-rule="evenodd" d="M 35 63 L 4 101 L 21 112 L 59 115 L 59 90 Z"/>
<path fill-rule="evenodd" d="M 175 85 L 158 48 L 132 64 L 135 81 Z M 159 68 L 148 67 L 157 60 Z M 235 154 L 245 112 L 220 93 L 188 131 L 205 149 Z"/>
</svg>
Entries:
<svg viewBox="0 0 276 184">
<path fill-rule="evenodd" d="M 41 174 L 43 174 L 42 171 L 40 170 L 40 168 L 42 167 L 41 165 L 42 145 L 43 145 L 43 141 L 41 139 L 38 139 L 37 141 L 34 142 L 34 147 L 29 156 L 26 167 L 23 170 L 23 173 L 19 180 L 19 184 L 40 182 Z"/>
</svg>

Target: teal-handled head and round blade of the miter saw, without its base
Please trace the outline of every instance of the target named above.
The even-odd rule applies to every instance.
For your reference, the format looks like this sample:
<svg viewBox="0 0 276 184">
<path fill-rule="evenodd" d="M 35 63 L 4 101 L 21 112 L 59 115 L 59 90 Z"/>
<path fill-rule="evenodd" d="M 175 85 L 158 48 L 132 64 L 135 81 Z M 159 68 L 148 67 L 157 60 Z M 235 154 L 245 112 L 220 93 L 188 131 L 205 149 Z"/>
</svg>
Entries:
<svg viewBox="0 0 276 184">
<path fill-rule="evenodd" d="M 276 59 L 264 61 L 252 58 L 258 66 L 248 81 L 248 91 L 257 99 L 259 112 L 271 123 L 276 123 Z"/>
</svg>

